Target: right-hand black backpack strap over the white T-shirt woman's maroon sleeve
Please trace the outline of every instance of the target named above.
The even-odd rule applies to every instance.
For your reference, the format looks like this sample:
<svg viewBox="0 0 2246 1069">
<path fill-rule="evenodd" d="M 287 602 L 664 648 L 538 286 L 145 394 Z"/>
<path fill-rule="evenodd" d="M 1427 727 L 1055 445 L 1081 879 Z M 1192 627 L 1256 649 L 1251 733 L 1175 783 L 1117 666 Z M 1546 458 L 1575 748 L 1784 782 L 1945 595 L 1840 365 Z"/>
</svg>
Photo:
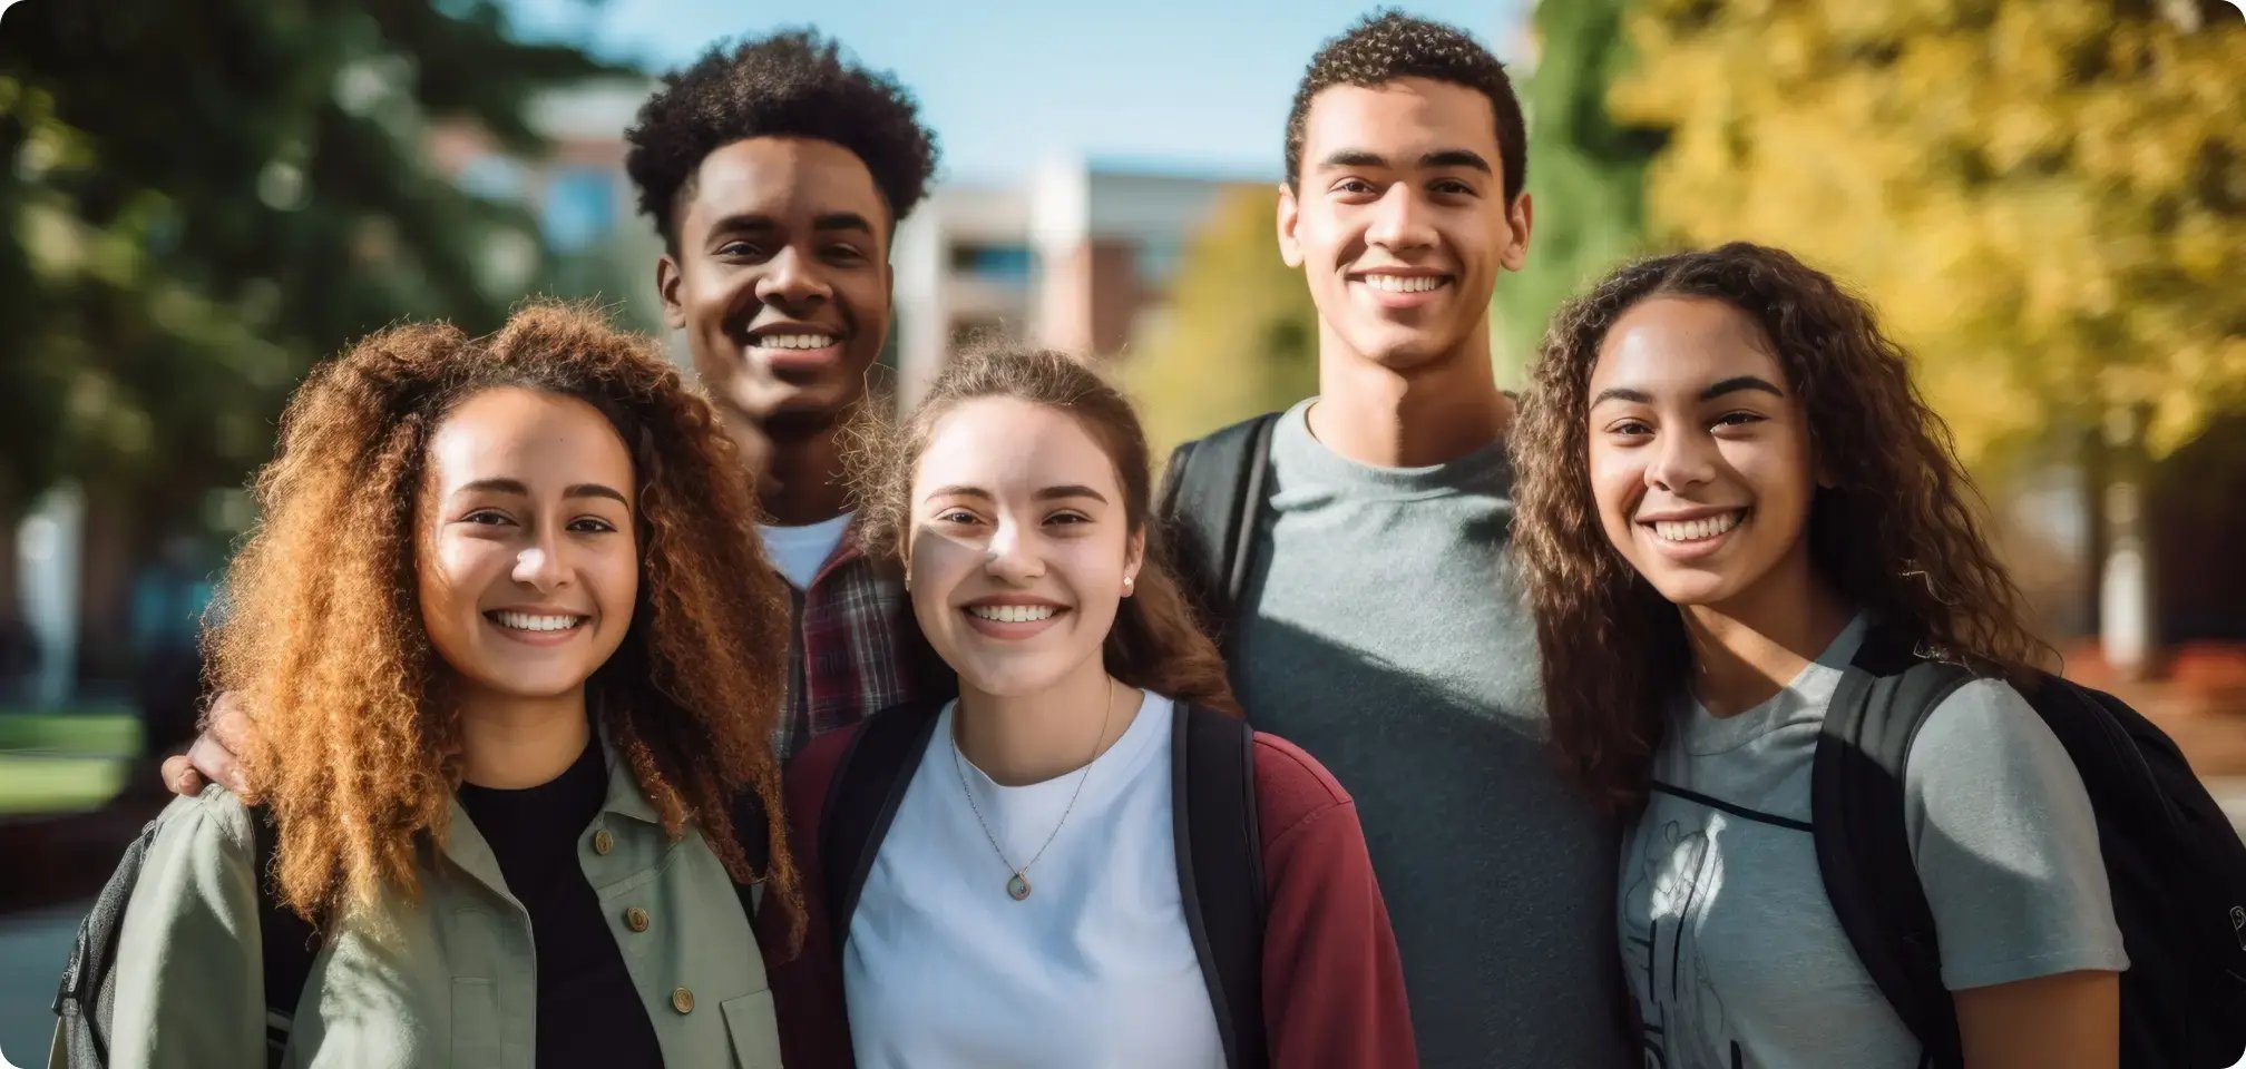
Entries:
<svg viewBox="0 0 2246 1069">
<path fill-rule="evenodd" d="M 1264 871 L 1256 826 L 1256 732 L 1235 716 L 1177 705 L 1170 728 L 1170 817 L 1177 887 L 1217 1011 L 1224 1065 L 1262 1069 Z"/>
</svg>

